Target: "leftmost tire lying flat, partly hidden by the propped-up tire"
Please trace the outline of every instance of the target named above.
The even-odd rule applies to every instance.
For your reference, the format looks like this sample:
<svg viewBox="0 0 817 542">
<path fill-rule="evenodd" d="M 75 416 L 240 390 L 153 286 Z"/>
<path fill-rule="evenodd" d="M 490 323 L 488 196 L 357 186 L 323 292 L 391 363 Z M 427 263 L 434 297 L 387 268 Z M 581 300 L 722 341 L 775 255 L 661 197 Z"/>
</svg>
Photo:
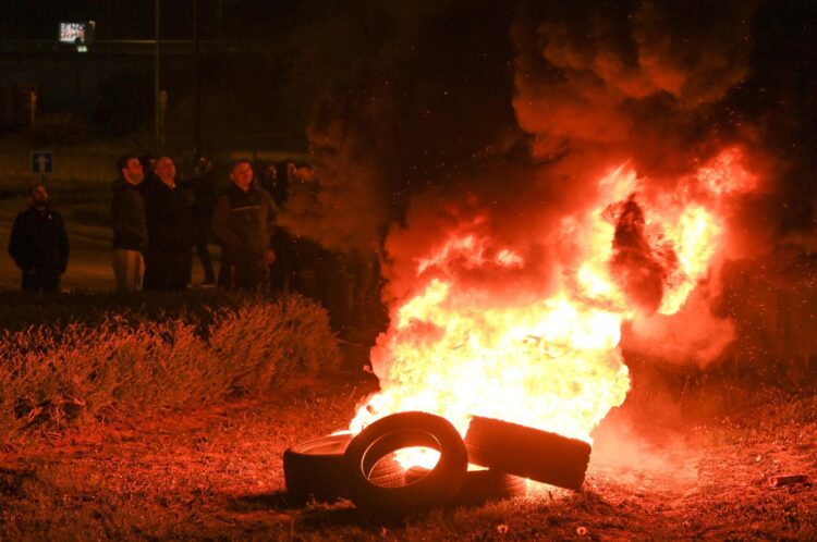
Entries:
<svg viewBox="0 0 817 542">
<path fill-rule="evenodd" d="M 334 501 L 349 495 L 343 472 L 343 452 L 352 436 L 318 436 L 283 453 L 283 477 L 291 504 L 303 505 L 310 497 Z"/>
</svg>

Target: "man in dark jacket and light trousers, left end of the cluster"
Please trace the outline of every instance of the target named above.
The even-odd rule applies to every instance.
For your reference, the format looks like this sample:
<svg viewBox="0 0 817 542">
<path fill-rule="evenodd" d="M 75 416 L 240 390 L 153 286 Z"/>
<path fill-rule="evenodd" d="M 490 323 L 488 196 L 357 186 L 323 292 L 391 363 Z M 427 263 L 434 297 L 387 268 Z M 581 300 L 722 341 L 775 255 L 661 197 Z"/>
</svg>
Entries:
<svg viewBox="0 0 817 542">
<path fill-rule="evenodd" d="M 117 162 L 119 178 L 111 185 L 111 219 L 113 226 L 113 274 L 117 290 L 142 290 L 147 251 L 145 200 L 139 192 L 144 170 L 136 156 L 125 156 Z"/>
</svg>

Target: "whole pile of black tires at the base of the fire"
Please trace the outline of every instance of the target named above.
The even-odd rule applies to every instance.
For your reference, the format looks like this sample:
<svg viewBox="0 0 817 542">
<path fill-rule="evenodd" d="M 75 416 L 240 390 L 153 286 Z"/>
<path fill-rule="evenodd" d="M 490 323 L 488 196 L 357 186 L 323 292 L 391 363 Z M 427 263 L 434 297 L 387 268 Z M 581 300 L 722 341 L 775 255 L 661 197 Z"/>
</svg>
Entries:
<svg viewBox="0 0 817 542">
<path fill-rule="evenodd" d="M 410 447 L 440 458 L 431 469 L 404 470 L 392 457 Z M 588 460 L 582 441 L 480 417 L 463 440 L 444 418 L 418 411 L 383 417 L 355 436 L 305 441 L 283 457 L 293 504 L 351 498 L 380 517 L 524 495 L 525 478 L 578 490 Z M 484 469 L 468 470 L 470 463 Z"/>
</svg>

